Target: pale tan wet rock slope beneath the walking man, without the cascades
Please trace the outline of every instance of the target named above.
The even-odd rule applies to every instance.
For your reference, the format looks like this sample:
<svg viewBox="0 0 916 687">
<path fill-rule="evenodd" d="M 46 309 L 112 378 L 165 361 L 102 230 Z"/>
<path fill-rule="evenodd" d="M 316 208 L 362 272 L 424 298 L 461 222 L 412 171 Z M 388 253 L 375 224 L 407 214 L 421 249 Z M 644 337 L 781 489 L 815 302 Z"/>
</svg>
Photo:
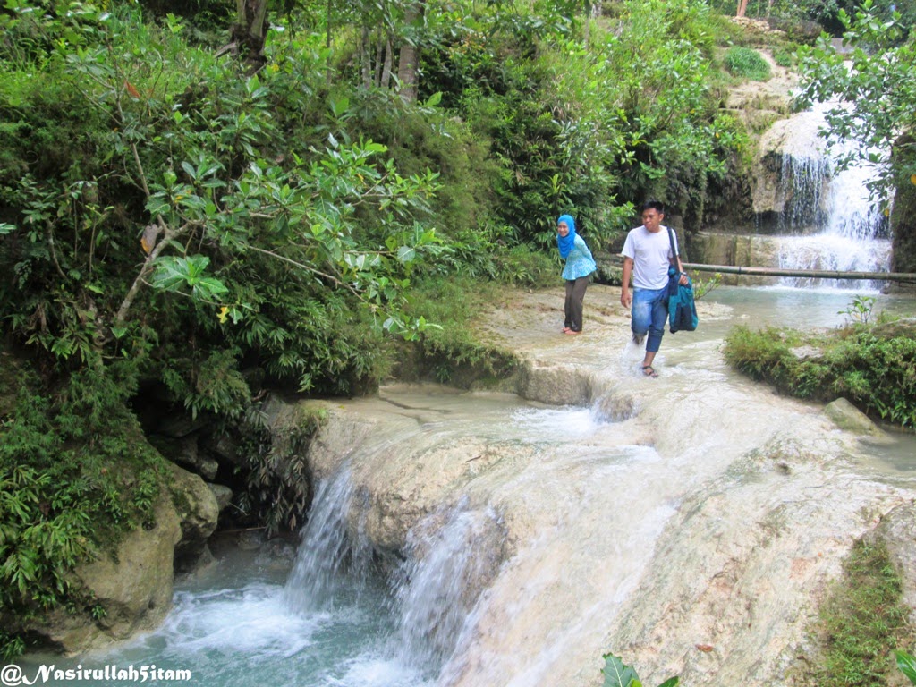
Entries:
<svg viewBox="0 0 916 687">
<path fill-rule="evenodd" d="M 452 406 L 421 407 L 409 389 L 325 404 L 315 472 L 352 462 L 354 529 L 380 549 L 398 555 L 443 506 L 498 514 L 502 539 L 479 542 L 498 571 L 469 594 L 442 684 L 597 687 L 607 651 L 647 684 L 790 684 L 854 541 L 911 504 L 906 476 L 877 467 L 822 406 L 727 368 L 720 337 L 736 313 L 701 301 L 701 330 L 666 334 L 649 379 L 618 297 L 590 288 L 575 337 L 560 333 L 559 290 L 518 293 L 487 318 L 485 337 L 527 361 L 519 393 L 591 405 L 590 434 L 446 435 Z"/>
</svg>

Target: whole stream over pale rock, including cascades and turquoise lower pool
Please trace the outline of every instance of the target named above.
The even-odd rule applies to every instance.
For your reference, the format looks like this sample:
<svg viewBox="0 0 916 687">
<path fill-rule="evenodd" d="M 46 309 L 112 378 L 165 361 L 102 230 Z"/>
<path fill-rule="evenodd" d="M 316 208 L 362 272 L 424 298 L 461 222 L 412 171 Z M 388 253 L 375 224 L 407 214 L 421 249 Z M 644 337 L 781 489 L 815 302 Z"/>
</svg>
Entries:
<svg viewBox="0 0 916 687">
<path fill-rule="evenodd" d="M 615 297 L 596 287 L 587 304 Z M 155 665 L 210 687 L 573 687 L 599 685 L 602 652 L 626 648 L 655 667 L 652 683 L 681 671 L 692 684 L 767 684 L 780 656 L 767 646 L 796 631 L 783 606 L 830 573 L 818 556 L 845 538 L 837 529 L 867 527 L 875 499 L 896 503 L 916 485 L 916 442 L 850 449 L 819 407 L 737 376 L 719 345 L 742 322 L 834 326 L 847 303 L 834 291 L 716 289 L 697 333 L 666 335 L 658 380 L 638 376 L 626 331 L 599 335 L 597 316 L 574 342 L 555 331 L 562 319 L 506 322 L 535 359 L 586 374 L 590 401 L 420 386 L 335 402 L 343 420 L 316 458 L 294 555 L 216 551 L 177 586 L 158 630 L 72 659 L 30 656 L 27 673 Z M 877 309 L 914 311 L 886 296 Z M 669 420 L 664 403 L 677 409 Z M 765 469 L 783 463 L 792 480 Z M 769 582 L 714 596 L 728 579 L 714 565 L 737 562 L 740 579 Z M 713 654 L 693 645 L 725 637 L 734 653 L 704 667 Z"/>
</svg>

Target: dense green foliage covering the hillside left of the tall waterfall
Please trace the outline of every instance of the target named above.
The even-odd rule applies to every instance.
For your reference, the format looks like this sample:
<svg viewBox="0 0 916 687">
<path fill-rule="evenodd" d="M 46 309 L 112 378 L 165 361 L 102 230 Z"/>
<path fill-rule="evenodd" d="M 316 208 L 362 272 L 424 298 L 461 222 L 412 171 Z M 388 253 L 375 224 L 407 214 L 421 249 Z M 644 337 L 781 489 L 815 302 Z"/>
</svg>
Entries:
<svg viewBox="0 0 916 687">
<path fill-rule="evenodd" d="M 277 34 L 245 76 L 174 16 L 26 9 L 4 17 L 4 321 L 60 374 L 138 360 L 194 413 L 237 416 L 249 361 L 364 387 L 379 332 L 424 326 L 402 307 L 417 278 L 524 278 L 496 254 L 550 246 L 569 208 L 593 245 L 647 195 L 700 217 L 737 159 L 714 21 L 686 0 L 625 3 L 594 49 L 560 15 L 425 26 L 417 105 L 346 62 L 329 83 L 321 35 Z"/>
</svg>

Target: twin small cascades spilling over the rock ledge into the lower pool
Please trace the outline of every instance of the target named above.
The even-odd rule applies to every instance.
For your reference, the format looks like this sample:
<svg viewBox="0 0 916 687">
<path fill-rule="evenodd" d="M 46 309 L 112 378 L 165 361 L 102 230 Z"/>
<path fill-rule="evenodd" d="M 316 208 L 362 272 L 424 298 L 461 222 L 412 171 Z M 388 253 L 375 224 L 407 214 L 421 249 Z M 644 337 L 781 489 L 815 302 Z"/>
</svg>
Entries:
<svg viewBox="0 0 916 687">
<path fill-rule="evenodd" d="M 347 467 L 318 485 L 284 589 L 284 601 L 294 612 L 352 605 L 367 584 L 381 579 L 365 539 L 368 508 L 355 496 Z M 355 529 L 348 525 L 351 511 L 360 522 Z M 466 497 L 437 509 L 409 531 L 405 560 L 388 583 L 396 631 L 384 650 L 386 661 L 427 678 L 439 671 L 477 593 L 496 574 L 504 539 L 496 512 L 469 509 Z"/>
</svg>

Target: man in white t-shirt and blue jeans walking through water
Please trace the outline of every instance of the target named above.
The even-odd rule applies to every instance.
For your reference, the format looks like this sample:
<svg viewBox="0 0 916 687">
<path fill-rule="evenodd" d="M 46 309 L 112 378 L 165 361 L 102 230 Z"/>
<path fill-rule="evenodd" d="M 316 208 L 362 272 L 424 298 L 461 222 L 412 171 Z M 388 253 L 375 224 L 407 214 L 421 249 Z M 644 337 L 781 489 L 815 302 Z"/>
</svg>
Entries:
<svg viewBox="0 0 916 687">
<path fill-rule="evenodd" d="M 659 376 L 652 367 L 652 361 L 659 352 L 668 319 L 668 267 L 677 267 L 681 273 L 681 284 L 687 284 L 687 275 L 678 256 L 677 239 L 671 245 L 668 227 L 661 224 L 664 218 L 665 206 L 659 201 L 643 205 L 642 226 L 630 230 L 621 251 L 624 274 L 620 302 L 626 308 L 632 306 L 630 328 L 633 330 L 633 341 L 642 345 L 649 333 L 646 357 L 642 361 L 642 374 L 645 376 Z M 633 276 L 632 296 L 629 291 L 630 275 Z"/>
</svg>

